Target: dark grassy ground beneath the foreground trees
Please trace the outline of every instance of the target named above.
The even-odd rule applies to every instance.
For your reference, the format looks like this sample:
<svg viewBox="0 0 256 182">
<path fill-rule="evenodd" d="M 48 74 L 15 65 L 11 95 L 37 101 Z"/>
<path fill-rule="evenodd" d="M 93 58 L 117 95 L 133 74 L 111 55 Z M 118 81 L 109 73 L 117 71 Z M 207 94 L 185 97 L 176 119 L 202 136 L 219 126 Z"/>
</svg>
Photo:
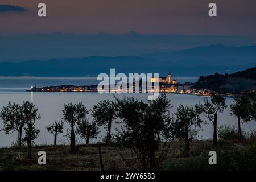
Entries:
<svg viewBox="0 0 256 182">
<path fill-rule="evenodd" d="M 0 148 L 0 170 L 100 170 L 97 145 L 78 146 L 75 155 L 69 154 L 69 146 L 34 146 L 32 159 L 27 160 L 27 148 Z M 209 151 L 217 152 L 217 165 L 208 163 Z M 46 165 L 39 166 L 37 154 L 46 152 Z M 102 159 L 105 170 L 139 169 L 137 159 L 129 149 L 102 146 Z M 157 156 L 157 155 L 156 155 Z M 246 142 L 212 141 L 191 142 L 191 154 L 184 155 L 184 143 L 170 143 L 166 158 L 156 166 L 156 170 L 236 170 L 256 169 L 255 140 Z"/>
</svg>

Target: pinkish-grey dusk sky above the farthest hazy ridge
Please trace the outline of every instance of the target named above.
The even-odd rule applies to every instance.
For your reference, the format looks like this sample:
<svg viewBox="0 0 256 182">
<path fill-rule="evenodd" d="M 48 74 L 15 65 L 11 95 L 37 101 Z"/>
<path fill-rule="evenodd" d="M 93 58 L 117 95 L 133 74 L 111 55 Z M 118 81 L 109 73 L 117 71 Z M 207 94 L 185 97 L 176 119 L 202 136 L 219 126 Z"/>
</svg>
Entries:
<svg viewBox="0 0 256 182">
<path fill-rule="evenodd" d="M 37 15 L 47 5 L 47 18 Z M 210 2 L 217 18 L 208 16 Z M 28 11 L 0 12 L 0 35 L 72 32 L 88 34 L 237 35 L 256 36 L 255 0 L 0 0 Z"/>
</svg>

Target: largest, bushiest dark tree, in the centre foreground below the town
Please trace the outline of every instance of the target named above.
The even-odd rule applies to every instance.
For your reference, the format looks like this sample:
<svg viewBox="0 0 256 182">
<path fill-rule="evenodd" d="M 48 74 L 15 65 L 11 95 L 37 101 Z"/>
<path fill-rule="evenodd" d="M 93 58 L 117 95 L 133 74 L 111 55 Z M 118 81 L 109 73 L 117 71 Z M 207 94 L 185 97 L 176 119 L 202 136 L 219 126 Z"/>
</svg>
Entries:
<svg viewBox="0 0 256 182">
<path fill-rule="evenodd" d="M 163 113 L 152 110 L 157 103 L 166 103 Z M 142 168 L 155 167 L 155 152 L 159 150 L 157 134 L 162 134 L 168 141 L 170 135 L 171 117 L 168 113 L 170 101 L 165 96 L 149 104 L 135 100 L 133 97 L 118 100 L 118 117 L 122 119 L 122 130 L 117 133 L 117 142 L 121 146 L 129 147 L 141 163 Z M 165 144 L 164 144 L 165 146 Z M 162 148 L 162 151 L 164 148 Z"/>
</svg>

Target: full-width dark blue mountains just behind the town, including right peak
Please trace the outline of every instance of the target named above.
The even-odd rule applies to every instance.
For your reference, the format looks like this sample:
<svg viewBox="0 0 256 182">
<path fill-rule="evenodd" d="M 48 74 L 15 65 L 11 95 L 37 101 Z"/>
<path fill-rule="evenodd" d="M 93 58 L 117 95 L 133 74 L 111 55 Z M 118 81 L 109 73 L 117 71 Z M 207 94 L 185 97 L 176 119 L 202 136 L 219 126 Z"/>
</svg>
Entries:
<svg viewBox="0 0 256 182">
<path fill-rule="evenodd" d="M 200 76 L 233 73 L 256 65 L 256 46 L 228 47 L 222 44 L 139 56 L 90 56 L 81 59 L 51 59 L 0 63 L 0 76 L 97 76 L 109 73 L 160 73 L 166 76 Z"/>
</svg>

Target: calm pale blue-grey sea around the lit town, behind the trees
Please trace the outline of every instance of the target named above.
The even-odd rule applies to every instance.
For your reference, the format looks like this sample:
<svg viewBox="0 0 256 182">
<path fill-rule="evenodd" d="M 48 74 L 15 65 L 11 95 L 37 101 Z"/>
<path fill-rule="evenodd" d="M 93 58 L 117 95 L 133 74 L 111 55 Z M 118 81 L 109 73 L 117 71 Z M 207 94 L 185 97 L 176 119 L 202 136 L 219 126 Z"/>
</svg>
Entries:
<svg viewBox="0 0 256 182">
<path fill-rule="evenodd" d="M 197 78 L 175 78 L 178 82 L 195 82 Z M 49 85 L 90 85 L 98 84 L 99 81 L 95 77 L 0 77 L 0 109 L 6 106 L 9 101 L 21 104 L 23 101 L 31 101 L 39 109 L 39 113 L 42 117 L 40 121 L 36 121 L 36 127 L 41 131 L 38 139 L 35 140 L 38 144 L 52 144 L 53 136 L 47 133 L 45 127 L 51 124 L 55 120 L 62 118 L 61 110 L 64 104 L 69 102 L 82 102 L 88 109 L 92 109 L 92 106 L 97 104 L 101 100 L 109 99 L 114 100 L 112 94 L 98 94 L 98 93 L 56 93 L 56 92 L 26 92 L 32 85 L 49 86 Z M 117 97 L 124 97 L 123 94 L 116 94 Z M 146 101 L 147 94 L 127 94 L 126 96 L 134 96 L 139 100 Z M 167 97 L 171 99 L 172 107 L 171 112 L 174 113 L 177 106 L 195 105 L 197 102 L 202 102 L 203 97 L 191 96 L 183 94 L 167 94 Z M 226 98 L 226 104 L 230 106 L 232 104 L 232 98 Z M 224 111 L 224 113 L 218 115 L 218 124 L 236 124 L 237 119 L 230 115 L 230 107 Z M 90 119 L 90 114 L 88 115 Z M 68 123 L 64 124 L 64 133 L 59 134 L 58 142 L 61 144 L 68 144 L 68 140 L 64 137 L 67 133 Z M 0 120 L 0 129 L 3 127 L 3 122 Z M 114 124 L 112 132 L 115 132 L 115 128 L 119 128 L 118 124 Z M 243 123 L 243 129 L 250 131 L 256 129 L 256 122 Z M 212 123 L 203 126 L 203 131 L 200 131 L 198 138 L 208 139 L 212 137 L 213 128 Z M 96 142 L 105 136 L 105 129 L 101 128 L 101 133 L 97 139 L 91 142 Z M 3 131 L 0 131 L 0 146 L 10 146 L 11 142 L 16 141 L 17 133 L 6 135 Z M 84 142 L 77 137 L 77 142 Z"/>
</svg>

